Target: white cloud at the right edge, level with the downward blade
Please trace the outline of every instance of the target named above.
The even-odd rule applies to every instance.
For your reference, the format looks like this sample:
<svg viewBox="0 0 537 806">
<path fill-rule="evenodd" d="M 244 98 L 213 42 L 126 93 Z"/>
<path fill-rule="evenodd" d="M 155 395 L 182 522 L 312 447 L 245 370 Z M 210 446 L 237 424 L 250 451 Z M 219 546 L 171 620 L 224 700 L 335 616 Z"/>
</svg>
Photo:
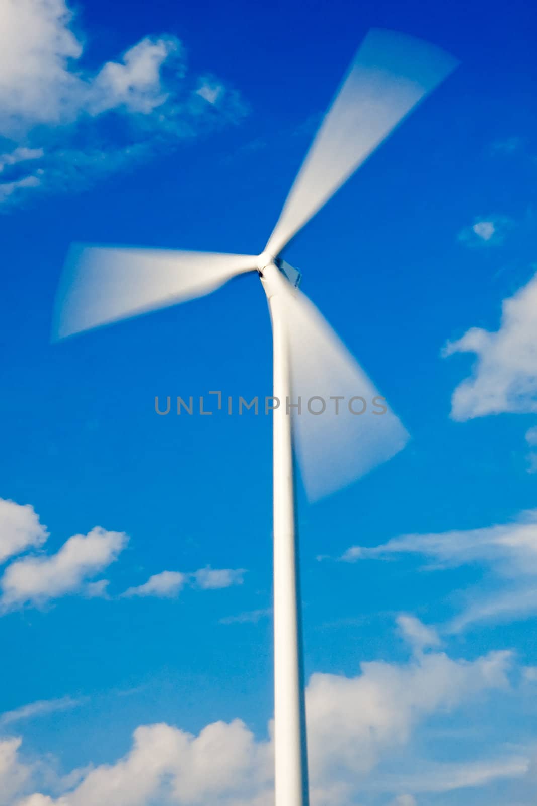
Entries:
<svg viewBox="0 0 537 806">
<path fill-rule="evenodd" d="M 477 364 L 452 396 L 455 420 L 537 411 L 537 275 L 502 302 L 500 329 L 472 327 L 444 356 L 473 352 Z"/>
</svg>

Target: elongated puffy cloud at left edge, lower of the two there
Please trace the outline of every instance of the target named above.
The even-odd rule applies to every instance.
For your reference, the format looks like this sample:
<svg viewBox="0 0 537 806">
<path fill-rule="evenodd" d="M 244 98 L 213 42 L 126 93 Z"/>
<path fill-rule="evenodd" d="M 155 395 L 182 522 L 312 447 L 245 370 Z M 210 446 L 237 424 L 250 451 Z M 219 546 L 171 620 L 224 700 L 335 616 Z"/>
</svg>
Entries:
<svg viewBox="0 0 537 806">
<path fill-rule="evenodd" d="M 24 557 L 11 563 L 0 580 L 4 609 L 44 602 L 78 592 L 84 581 L 118 558 L 128 538 L 96 526 L 69 538 L 55 555 Z"/>
</svg>

